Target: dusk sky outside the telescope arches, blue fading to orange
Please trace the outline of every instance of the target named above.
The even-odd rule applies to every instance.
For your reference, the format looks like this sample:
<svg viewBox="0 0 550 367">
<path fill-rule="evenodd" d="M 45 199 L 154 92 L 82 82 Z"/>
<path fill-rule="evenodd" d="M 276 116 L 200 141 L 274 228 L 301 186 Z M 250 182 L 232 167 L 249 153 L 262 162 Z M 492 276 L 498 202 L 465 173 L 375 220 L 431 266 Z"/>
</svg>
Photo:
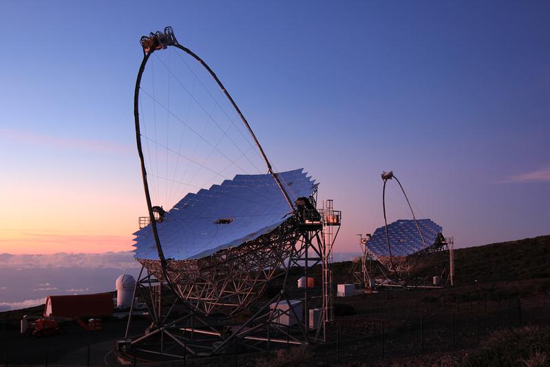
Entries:
<svg viewBox="0 0 550 367">
<path fill-rule="evenodd" d="M 0 253 L 133 249 L 140 36 L 173 26 L 279 170 L 383 225 L 382 171 L 457 247 L 550 233 L 547 1 L 0 0 Z M 389 182 L 388 220 L 410 218 Z"/>
</svg>

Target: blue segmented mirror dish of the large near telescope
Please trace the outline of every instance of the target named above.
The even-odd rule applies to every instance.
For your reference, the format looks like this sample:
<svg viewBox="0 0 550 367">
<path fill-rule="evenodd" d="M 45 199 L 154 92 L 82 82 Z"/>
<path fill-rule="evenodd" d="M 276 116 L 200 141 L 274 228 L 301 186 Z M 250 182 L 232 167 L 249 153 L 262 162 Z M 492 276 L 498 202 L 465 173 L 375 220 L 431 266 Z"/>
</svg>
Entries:
<svg viewBox="0 0 550 367">
<path fill-rule="evenodd" d="M 303 169 L 277 174 L 292 200 L 310 197 L 317 183 Z M 193 260 L 269 233 L 292 216 L 270 174 L 237 175 L 221 185 L 188 193 L 157 223 L 167 259 Z M 136 233 L 138 259 L 158 259 L 151 224 Z"/>
</svg>

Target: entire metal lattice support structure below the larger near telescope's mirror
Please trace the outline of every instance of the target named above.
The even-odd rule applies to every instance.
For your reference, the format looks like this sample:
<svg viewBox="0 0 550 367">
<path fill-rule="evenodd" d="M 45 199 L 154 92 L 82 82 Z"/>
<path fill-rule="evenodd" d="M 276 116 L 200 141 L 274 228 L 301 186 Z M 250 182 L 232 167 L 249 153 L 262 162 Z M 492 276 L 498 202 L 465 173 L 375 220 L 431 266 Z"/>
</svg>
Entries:
<svg viewBox="0 0 550 367">
<path fill-rule="evenodd" d="M 331 249 L 339 222 L 322 218 L 304 224 L 294 216 L 240 247 L 199 260 L 168 260 L 170 284 L 157 260 L 139 260 L 135 297 L 147 303 L 152 323 L 131 338 L 130 312 L 119 350 L 176 359 L 326 341 L 333 318 Z M 322 281 L 298 289 L 297 279 L 307 278 L 312 266 L 321 268 Z"/>
</svg>

